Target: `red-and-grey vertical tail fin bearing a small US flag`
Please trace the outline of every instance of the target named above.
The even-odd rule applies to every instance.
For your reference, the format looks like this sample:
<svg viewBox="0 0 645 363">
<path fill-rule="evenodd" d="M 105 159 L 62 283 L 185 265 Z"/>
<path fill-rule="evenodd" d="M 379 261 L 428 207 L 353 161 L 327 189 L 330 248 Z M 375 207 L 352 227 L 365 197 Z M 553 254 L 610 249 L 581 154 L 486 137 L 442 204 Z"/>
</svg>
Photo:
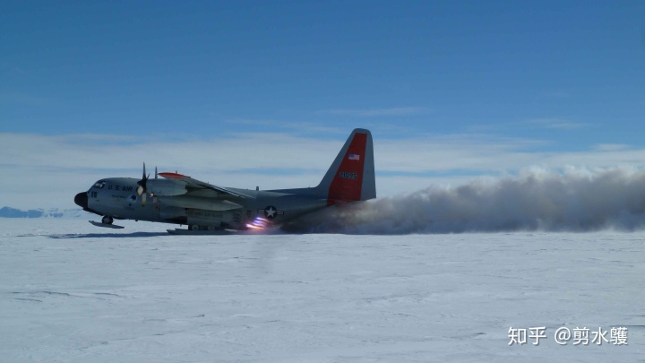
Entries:
<svg viewBox="0 0 645 363">
<path fill-rule="evenodd" d="M 369 130 L 357 128 L 316 186 L 327 195 L 327 203 L 357 202 L 376 197 L 374 146 Z"/>
</svg>

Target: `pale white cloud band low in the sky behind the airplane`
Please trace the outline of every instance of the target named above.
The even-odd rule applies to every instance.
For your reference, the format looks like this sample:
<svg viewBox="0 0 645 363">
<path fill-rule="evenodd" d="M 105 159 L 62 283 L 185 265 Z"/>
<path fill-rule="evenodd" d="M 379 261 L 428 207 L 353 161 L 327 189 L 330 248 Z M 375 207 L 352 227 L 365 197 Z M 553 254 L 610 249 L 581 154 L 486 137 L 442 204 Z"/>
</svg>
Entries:
<svg viewBox="0 0 645 363">
<path fill-rule="evenodd" d="M 284 133 L 210 139 L 120 135 L 0 134 L 0 206 L 73 207 L 73 195 L 101 177 L 140 177 L 175 171 L 220 186 L 262 189 L 315 186 L 346 135 L 333 140 Z M 379 195 L 410 193 L 431 184 L 456 184 L 540 166 L 641 167 L 645 150 L 602 146 L 589 151 L 539 151 L 544 143 L 485 135 L 426 135 L 386 139 L 374 134 Z"/>
</svg>

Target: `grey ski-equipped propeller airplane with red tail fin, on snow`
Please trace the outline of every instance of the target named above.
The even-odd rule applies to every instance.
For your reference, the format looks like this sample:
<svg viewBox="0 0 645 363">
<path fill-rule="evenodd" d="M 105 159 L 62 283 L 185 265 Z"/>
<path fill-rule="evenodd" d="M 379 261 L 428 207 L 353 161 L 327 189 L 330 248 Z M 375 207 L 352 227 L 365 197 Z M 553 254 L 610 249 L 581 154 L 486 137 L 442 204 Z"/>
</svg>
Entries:
<svg viewBox="0 0 645 363">
<path fill-rule="evenodd" d="M 160 179 L 159 177 L 163 177 Z M 355 129 L 318 186 L 249 190 L 213 186 L 177 173 L 141 179 L 108 177 L 87 192 L 76 194 L 74 203 L 84 211 L 103 216 L 99 227 L 116 226 L 116 220 L 148 220 L 187 225 L 168 229 L 173 234 L 209 234 L 230 229 L 262 229 L 292 220 L 326 206 L 366 201 L 376 197 L 372 134 Z"/>
</svg>

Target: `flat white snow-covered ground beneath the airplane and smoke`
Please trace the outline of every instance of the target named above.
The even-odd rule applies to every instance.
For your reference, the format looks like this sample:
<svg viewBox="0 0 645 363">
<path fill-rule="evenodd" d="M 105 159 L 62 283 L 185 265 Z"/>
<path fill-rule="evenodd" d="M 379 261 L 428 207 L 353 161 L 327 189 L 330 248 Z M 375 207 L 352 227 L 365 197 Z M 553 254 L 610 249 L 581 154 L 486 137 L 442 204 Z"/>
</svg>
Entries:
<svg viewBox="0 0 645 363">
<path fill-rule="evenodd" d="M 645 359 L 645 232 L 185 237 L 121 224 L 0 220 L 3 361 Z M 538 346 L 509 346 L 509 328 L 538 326 Z M 559 345 L 562 327 L 607 340 L 626 327 L 628 345 Z"/>
</svg>

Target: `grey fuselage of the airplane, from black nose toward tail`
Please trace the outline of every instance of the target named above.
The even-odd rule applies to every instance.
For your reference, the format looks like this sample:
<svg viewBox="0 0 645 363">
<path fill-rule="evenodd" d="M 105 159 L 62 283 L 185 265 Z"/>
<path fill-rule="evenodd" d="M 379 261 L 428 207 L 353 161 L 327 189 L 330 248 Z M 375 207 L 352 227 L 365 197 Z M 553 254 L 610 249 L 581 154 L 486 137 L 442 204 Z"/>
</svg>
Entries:
<svg viewBox="0 0 645 363">
<path fill-rule="evenodd" d="M 117 220 L 147 220 L 163 223 L 201 226 L 211 229 L 245 229 L 262 224 L 278 224 L 299 215 L 323 209 L 326 199 L 306 189 L 247 190 L 228 188 L 245 198 L 222 195 L 204 198 L 200 191 L 174 196 L 148 195 L 142 201 L 133 177 L 100 179 L 75 200 L 85 210 Z M 312 192 L 314 188 L 310 188 Z M 84 196 L 87 202 L 84 205 Z"/>
</svg>

